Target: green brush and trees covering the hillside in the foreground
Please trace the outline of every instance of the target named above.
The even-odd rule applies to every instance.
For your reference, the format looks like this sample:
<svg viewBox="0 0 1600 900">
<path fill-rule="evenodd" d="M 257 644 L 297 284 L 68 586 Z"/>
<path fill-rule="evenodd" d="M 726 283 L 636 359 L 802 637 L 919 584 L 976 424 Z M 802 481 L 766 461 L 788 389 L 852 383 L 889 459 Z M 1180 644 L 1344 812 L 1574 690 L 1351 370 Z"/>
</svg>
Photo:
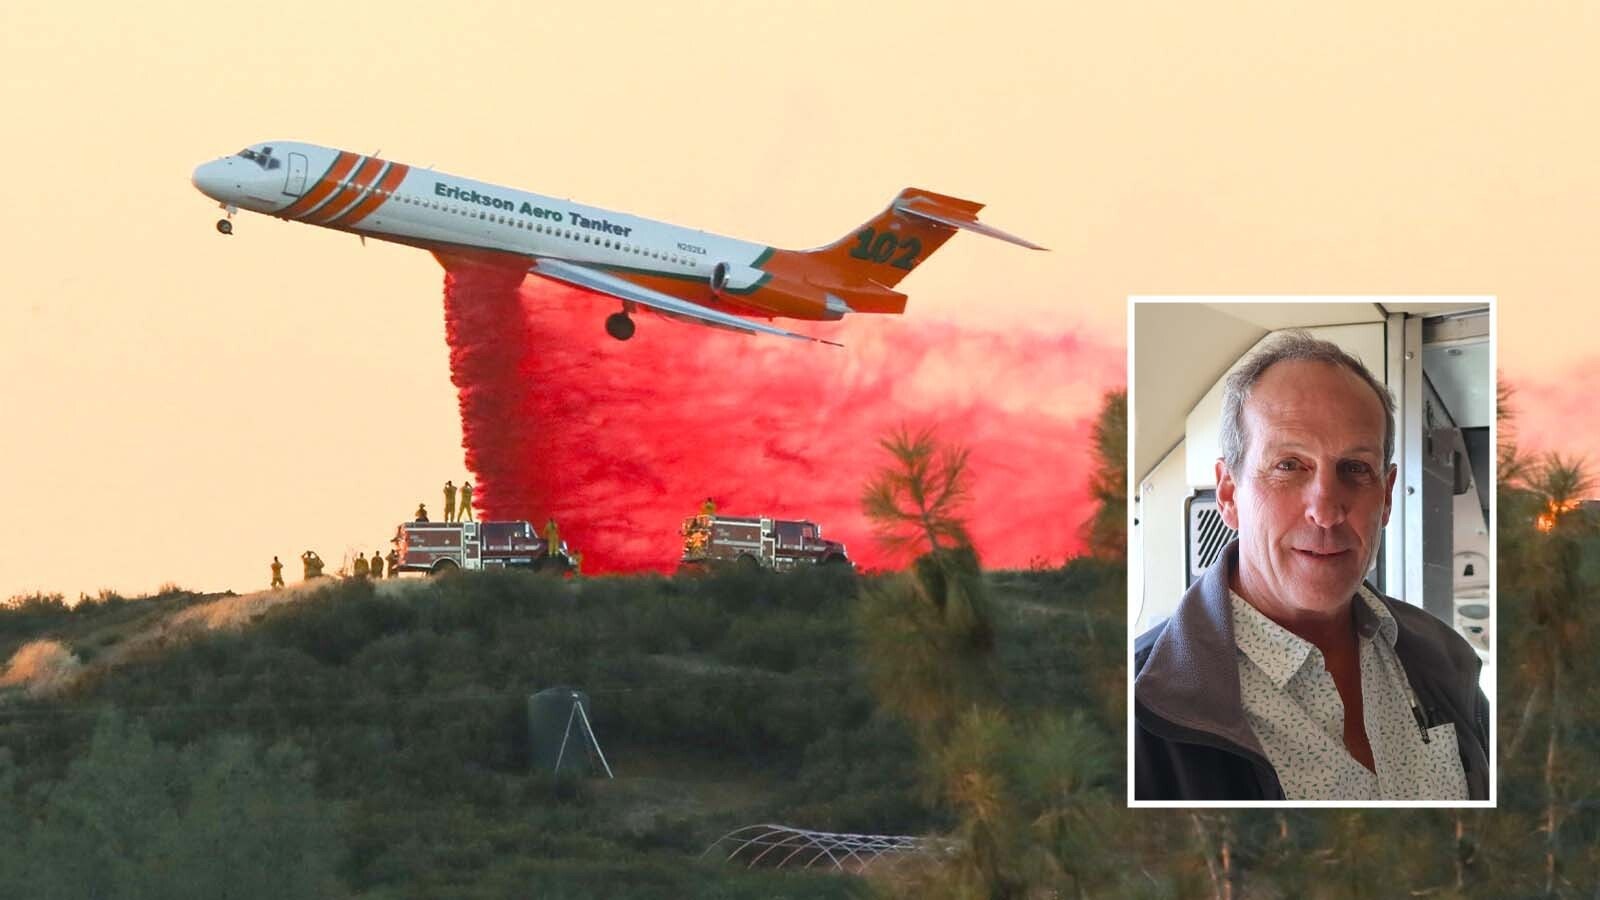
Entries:
<svg viewBox="0 0 1600 900">
<path fill-rule="evenodd" d="M 1118 415 L 1109 397 L 1107 437 Z M 365 898 L 1600 882 L 1586 463 L 1501 448 L 1499 809 L 1126 810 L 1125 548 L 1091 527 L 1096 556 L 982 572 L 960 450 L 915 432 L 886 448 L 864 504 L 912 557 L 901 573 L 342 581 L 165 645 L 130 639 L 205 597 L 14 601 L 6 657 L 51 637 L 85 669 L 64 695 L 0 692 L 0 895 L 216 897 L 224 873 L 243 873 L 230 897 Z M 1091 522 L 1125 514 L 1122 455 L 1104 450 Z M 614 781 L 530 770 L 528 695 L 555 685 L 589 693 Z M 952 852 L 867 879 L 701 858 L 757 822 Z"/>
</svg>

